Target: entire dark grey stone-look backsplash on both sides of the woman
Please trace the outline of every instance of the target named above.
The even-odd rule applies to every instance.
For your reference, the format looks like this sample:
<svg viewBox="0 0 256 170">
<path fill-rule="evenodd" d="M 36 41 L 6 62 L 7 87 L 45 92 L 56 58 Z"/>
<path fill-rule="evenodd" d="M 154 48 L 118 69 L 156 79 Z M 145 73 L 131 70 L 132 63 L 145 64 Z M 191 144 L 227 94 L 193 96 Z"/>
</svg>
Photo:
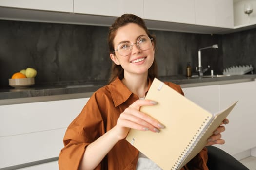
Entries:
<svg viewBox="0 0 256 170">
<path fill-rule="evenodd" d="M 108 27 L 0 20 L 0 87 L 21 69 L 38 70 L 37 85 L 107 80 L 111 60 L 107 45 Z M 232 65 L 252 64 L 256 68 L 256 29 L 209 35 L 150 30 L 157 37 L 159 75 L 185 75 L 187 62 L 192 71 L 198 64 L 217 74 Z M 208 72 L 210 74 L 210 71 Z"/>
</svg>

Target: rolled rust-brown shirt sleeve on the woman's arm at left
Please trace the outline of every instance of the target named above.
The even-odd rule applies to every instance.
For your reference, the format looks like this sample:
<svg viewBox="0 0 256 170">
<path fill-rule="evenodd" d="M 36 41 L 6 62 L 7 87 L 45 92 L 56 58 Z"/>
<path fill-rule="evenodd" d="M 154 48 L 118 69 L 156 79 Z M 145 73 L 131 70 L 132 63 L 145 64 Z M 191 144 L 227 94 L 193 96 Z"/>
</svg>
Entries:
<svg viewBox="0 0 256 170">
<path fill-rule="evenodd" d="M 78 170 L 86 146 L 104 133 L 104 122 L 94 94 L 66 130 L 64 148 L 59 154 L 59 170 Z M 97 169 L 100 167 L 98 165 Z"/>
</svg>

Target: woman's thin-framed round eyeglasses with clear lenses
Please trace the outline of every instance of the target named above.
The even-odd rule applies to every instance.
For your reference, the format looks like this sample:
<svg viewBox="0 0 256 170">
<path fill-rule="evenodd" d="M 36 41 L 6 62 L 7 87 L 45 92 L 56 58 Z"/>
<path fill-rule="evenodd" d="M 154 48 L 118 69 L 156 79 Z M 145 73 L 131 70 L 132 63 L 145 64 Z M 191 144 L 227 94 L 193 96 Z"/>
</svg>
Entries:
<svg viewBox="0 0 256 170">
<path fill-rule="evenodd" d="M 152 43 L 151 43 L 152 40 L 153 40 L 153 38 L 149 38 L 149 37 L 143 35 L 138 38 L 136 43 L 133 43 L 133 44 L 131 44 L 129 42 L 120 43 L 118 45 L 118 48 L 116 50 L 114 50 L 113 53 L 115 51 L 118 51 L 118 53 L 121 56 L 127 56 L 127 55 L 131 54 L 134 44 L 136 44 L 140 50 L 148 50 L 152 47 Z"/>
</svg>

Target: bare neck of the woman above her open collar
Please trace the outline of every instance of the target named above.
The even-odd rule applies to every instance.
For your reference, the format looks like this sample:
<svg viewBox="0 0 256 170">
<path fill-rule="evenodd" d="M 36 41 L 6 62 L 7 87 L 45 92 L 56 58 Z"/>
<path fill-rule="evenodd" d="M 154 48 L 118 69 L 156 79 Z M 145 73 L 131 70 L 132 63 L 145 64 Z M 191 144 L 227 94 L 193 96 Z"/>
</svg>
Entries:
<svg viewBox="0 0 256 170">
<path fill-rule="evenodd" d="M 148 90 L 148 73 L 142 75 L 124 74 L 122 82 L 131 92 L 139 98 L 143 98 Z"/>
</svg>

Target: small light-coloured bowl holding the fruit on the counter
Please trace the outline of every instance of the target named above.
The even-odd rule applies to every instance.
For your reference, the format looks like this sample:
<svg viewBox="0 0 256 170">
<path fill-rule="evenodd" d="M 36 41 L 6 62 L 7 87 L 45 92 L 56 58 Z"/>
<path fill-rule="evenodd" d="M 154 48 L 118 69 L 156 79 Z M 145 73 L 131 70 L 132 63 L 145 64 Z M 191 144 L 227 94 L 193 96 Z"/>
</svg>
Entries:
<svg viewBox="0 0 256 170">
<path fill-rule="evenodd" d="M 14 88 L 26 88 L 35 84 L 35 78 L 9 79 L 9 85 Z"/>
</svg>

